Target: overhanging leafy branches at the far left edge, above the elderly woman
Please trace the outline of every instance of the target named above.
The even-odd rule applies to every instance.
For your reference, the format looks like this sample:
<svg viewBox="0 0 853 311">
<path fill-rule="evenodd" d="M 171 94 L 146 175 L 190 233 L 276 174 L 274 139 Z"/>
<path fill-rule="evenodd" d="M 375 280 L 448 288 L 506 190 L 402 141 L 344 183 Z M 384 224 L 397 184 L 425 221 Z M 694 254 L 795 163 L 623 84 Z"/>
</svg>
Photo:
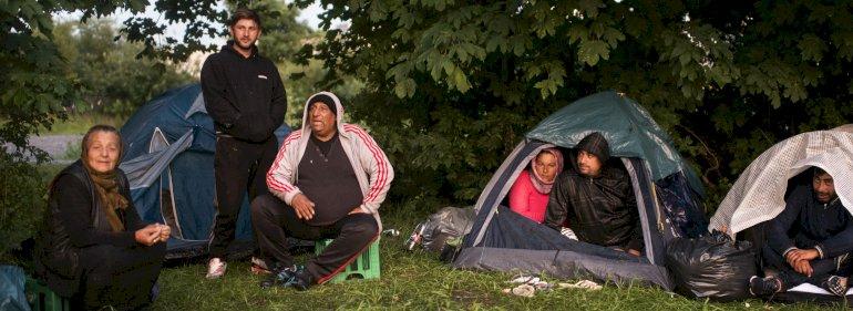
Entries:
<svg viewBox="0 0 853 311">
<path fill-rule="evenodd" d="M 83 86 L 53 37 L 52 15 L 82 11 L 84 19 L 117 9 L 140 12 L 142 1 L 2 1 L 0 2 L 0 145 L 12 162 L 47 154 L 27 143 L 40 128 L 65 118 L 65 107 L 81 103 Z"/>
</svg>

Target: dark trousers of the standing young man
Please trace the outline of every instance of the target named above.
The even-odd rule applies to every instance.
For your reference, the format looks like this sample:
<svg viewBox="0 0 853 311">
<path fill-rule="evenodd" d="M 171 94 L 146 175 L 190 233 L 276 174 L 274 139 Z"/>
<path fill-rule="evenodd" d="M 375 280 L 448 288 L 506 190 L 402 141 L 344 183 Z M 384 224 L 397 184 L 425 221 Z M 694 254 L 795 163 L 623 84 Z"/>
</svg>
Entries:
<svg viewBox="0 0 853 311">
<path fill-rule="evenodd" d="M 216 220 L 210 239 L 210 258 L 223 258 L 234 240 L 237 216 L 246 191 L 249 201 L 269 194 L 267 172 L 278 152 L 278 141 L 270 136 L 264 143 L 250 143 L 233 137 L 216 137 L 214 169 L 216 175 Z"/>
</svg>

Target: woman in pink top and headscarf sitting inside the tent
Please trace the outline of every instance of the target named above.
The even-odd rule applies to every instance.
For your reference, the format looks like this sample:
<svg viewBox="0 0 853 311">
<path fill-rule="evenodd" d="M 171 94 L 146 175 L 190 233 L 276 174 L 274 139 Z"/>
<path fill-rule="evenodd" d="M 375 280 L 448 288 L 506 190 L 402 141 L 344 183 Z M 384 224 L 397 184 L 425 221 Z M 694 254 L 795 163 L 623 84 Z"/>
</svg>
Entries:
<svg viewBox="0 0 853 311">
<path fill-rule="evenodd" d="M 563 170 L 563 154 L 557 148 L 546 148 L 531 162 L 531 169 L 523 170 L 510 189 L 510 209 L 542 224 L 554 179 Z"/>
</svg>

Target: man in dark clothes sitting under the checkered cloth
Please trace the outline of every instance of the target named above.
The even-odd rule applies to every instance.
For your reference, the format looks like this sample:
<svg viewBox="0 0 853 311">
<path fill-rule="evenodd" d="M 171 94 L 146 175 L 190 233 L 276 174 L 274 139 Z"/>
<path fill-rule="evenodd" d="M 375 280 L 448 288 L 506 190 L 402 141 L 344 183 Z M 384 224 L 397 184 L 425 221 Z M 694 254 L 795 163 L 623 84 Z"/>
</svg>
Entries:
<svg viewBox="0 0 853 311">
<path fill-rule="evenodd" d="M 754 296 L 773 293 L 802 283 L 819 286 L 836 296 L 847 290 L 853 251 L 853 217 L 841 204 L 832 176 L 813 167 L 812 185 L 799 185 L 785 208 L 768 227 L 764 278 L 749 280 Z"/>
</svg>

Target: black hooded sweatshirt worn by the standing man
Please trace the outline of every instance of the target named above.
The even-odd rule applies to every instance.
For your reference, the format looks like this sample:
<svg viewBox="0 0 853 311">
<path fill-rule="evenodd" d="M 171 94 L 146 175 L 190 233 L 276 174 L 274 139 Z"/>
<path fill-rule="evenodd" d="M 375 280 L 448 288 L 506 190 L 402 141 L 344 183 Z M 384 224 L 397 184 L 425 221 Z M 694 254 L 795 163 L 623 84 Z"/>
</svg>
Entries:
<svg viewBox="0 0 853 311">
<path fill-rule="evenodd" d="M 205 108 L 218 134 L 264 142 L 281 125 L 287 110 L 278 69 L 255 45 L 244 58 L 228 41 L 202 66 Z"/>
</svg>

